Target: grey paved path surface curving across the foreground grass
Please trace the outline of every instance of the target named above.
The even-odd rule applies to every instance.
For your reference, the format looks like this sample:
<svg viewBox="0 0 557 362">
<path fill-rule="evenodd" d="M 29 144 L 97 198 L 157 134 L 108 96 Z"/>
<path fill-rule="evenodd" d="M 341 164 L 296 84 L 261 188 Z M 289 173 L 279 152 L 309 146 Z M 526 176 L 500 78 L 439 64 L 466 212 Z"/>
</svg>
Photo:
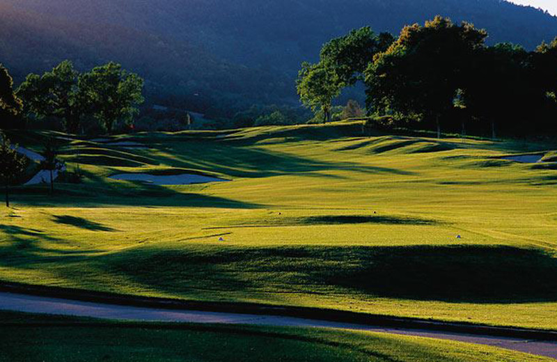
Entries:
<svg viewBox="0 0 557 362">
<path fill-rule="evenodd" d="M 139 308 L 132 306 L 117 306 L 111 304 L 72 301 L 35 297 L 24 294 L 0 292 L 0 310 L 14 310 L 27 313 L 45 313 L 55 315 L 74 315 L 79 317 L 96 317 L 109 320 L 133 320 L 148 322 L 192 322 L 192 323 L 220 323 L 220 324 L 258 324 L 266 326 L 301 326 L 340 328 L 359 331 L 375 331 L 382 333 L 402 334 L 457 340 L 478 345 L 490 345 L 519 352 L 549 356 L 557 359 L 557 342 L 541 340 L 522 340 L 518 338 L 503 338 L 481 336 L 466 333 L 451 333 L 444 331 L 427 331 L 425 329 L 400 329 L 379 326 L 366 326 L 341 322 L 327 322 L 324 320 L 306 320 L 296 317 L 281 317 L 274 315 L 250 315 L 237 313 L 213 313 L 196 310 L 169 310 L 160 308 Z"/>
</svg>

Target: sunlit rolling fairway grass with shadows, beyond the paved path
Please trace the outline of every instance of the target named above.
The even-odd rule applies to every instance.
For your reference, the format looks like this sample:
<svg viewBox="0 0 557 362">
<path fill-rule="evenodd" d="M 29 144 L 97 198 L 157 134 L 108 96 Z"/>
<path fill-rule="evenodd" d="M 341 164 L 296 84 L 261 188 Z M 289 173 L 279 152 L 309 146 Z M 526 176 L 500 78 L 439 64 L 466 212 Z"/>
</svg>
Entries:
<svg viewBox="0 0 557 362">
<path fill-rule="evenodd" d="M 84 183 L 16 191 L 1 280 L 557 329 L 557 171 L 497 158 L 557 145 L 370 137 L 357 123 L 131 140 L 149 148 L 65 141 L 70 171 L 91 162 Z M 99 149 L 123 162 L 93 161 Z M 177 169 L 232 182 L 108 178 Z"/>
</svg>

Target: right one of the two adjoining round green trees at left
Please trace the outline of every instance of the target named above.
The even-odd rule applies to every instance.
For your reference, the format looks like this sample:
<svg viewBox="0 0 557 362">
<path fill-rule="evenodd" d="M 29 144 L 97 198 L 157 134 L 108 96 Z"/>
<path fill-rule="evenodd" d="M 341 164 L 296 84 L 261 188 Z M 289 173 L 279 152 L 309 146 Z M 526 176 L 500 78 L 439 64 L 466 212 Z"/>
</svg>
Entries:
<svg viewBox="0 0 557 362">
<path fill-rule="evenodd" d="M 111 133 L 119 122 L 131 125 L 143 103 L 143 79 L 127 72 L 120 64 L 108 63 L 79 77 L 79 90 L 86 97 L 88 109 Z"/>
</svg>

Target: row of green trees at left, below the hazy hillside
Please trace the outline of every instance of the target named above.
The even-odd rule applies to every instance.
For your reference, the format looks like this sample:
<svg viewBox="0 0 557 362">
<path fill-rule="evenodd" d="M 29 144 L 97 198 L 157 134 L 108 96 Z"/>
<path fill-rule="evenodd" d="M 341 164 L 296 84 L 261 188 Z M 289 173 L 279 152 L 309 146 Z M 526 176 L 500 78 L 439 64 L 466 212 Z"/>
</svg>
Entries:
<svg viewBox="0 0 557 362">
<path fill-rule="evenodd" d="M 0 127 L 56 118 L 71 134 L 79 134 L 84 123 L 112 133 L 119 124 L 132 125 L 142 92 L 143 79 L 116 63 L 80 73 L 63 61 L 45 74 L 29 74 L 17 90 L 0 65 Z"/>
</svg>

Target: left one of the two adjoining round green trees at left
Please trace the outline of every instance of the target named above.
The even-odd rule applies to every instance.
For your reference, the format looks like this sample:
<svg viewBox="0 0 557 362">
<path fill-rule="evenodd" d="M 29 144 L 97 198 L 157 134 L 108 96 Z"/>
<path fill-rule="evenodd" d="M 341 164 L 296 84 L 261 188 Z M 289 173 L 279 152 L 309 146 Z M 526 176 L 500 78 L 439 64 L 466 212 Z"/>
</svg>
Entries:
<svg viewBox="0 0 557 362">
<path fill-rule="evenodd" d="M 24 100 L 27 115 L 61 118 L 66 132 L 77 134 L 81 118 L 87 111 L 78 77 L 72 62 L 63 61 L 42 77 L 29 74 L 19 86 L 17 95 Z"/>
</svg>

